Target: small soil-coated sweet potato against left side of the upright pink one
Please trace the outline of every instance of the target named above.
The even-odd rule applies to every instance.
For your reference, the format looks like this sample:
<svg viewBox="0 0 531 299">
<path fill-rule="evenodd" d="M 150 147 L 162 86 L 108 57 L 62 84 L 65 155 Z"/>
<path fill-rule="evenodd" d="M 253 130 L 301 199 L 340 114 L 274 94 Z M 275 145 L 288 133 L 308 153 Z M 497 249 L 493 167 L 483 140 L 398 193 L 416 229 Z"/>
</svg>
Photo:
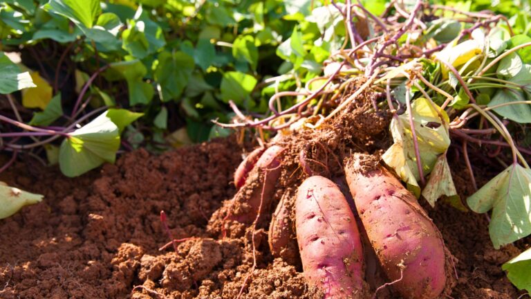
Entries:
<svg viewBox="0 0 531 299">
<path fill-rule="evenodd" d="M 269 248 L 274 257 L 281 257 L 288 264 L 295 264 L 299 256 L 291 213 L 295 208 L 295 190 L 288 189 L 282 195 L 269 225 Z"/>
</svg>

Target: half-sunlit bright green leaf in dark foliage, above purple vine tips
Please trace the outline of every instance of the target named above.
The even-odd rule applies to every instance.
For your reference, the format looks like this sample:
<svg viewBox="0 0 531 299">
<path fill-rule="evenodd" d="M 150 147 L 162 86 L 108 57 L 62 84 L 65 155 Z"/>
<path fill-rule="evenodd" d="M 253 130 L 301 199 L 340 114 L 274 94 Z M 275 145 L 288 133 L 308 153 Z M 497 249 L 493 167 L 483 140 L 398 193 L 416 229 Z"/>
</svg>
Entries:
<svg viewBox="0 0 531 299">
<path fill-rule="evenodd" d="M 221 100 L 223 102 L 232 100 L 236 105 L 241 105 L 250 96 L 257 82 L 256 78 L 246 73 L 234 71 L 224 73 L 220 87 Z"/>
</svg>

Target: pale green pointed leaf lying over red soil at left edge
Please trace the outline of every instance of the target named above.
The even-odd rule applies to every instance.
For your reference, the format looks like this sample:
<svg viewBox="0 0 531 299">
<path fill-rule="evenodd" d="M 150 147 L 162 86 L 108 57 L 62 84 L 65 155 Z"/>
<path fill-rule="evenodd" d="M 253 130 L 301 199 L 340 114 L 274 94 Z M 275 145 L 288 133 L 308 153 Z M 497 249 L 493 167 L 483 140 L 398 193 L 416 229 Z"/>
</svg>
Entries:
<svg viewBox="0 0 531 299">
<path fill-rule="evenodd" d="M 10 217 L 18 212 L 23 206 L 29 206 L 42 201 L 44 195 L 33 194 L 10 187 L 0 181 L 0 219 Z"/>
</svg>

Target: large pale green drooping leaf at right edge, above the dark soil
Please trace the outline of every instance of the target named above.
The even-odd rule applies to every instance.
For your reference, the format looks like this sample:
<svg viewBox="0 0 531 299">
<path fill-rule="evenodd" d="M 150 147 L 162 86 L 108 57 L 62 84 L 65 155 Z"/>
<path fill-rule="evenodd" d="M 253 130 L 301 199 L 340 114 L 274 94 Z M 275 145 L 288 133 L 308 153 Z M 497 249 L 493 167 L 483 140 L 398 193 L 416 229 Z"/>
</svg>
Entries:
<svg viewBox="0 0 531 299">
<path fill-rule="evenodd" d="M 494 248 L 531 234 L 531 170 L 510 165 L 467 199 L 474 212 L 492 209 L 489 233 Z"/>
</svg>

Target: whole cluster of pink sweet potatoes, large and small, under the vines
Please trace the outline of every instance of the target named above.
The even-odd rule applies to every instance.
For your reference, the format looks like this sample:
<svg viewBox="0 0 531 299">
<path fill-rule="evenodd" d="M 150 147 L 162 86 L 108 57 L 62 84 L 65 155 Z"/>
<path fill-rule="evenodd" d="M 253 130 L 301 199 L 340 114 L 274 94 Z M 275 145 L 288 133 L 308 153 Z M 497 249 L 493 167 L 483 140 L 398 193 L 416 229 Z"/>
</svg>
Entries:
<svg viewBox="0 0 531 299">
<path fill-rule="evenodd" d="M 225 211 L 225 219 L 250 224 L 269 212 L 283 152 L 272 145 L 245 158 L 234 174 L 239 191 L 232 201 L 239 208 Z M 346 158 L 344 173 L 349 190 L 343 192 L 317 175 L 286 190 L 270 221 L 272 255 L 293 260 L 295 243 L 308 284 L 325 298 L 368 298 L 375 291 L 365 280 L 364 251 L 371 251 L 388 280 L 384 286 L 403 298 L 439 298 L 451 280 L 449 253 L 413 194 L 373 156 Z"/>
</svg>

